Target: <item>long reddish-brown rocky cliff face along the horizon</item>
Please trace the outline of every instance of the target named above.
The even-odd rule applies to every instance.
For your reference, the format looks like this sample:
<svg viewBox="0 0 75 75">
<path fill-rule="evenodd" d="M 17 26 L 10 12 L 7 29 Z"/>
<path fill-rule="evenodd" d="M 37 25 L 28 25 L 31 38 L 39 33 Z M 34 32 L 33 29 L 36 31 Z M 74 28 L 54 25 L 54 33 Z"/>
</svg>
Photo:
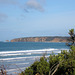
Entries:
<svg viewBox="0 0 75 75">
<path fill-rule="evenodd" d="M 27 37 L 12 39 L 11 42 L 67 42 L 69 37 Z"/>
</svg>

